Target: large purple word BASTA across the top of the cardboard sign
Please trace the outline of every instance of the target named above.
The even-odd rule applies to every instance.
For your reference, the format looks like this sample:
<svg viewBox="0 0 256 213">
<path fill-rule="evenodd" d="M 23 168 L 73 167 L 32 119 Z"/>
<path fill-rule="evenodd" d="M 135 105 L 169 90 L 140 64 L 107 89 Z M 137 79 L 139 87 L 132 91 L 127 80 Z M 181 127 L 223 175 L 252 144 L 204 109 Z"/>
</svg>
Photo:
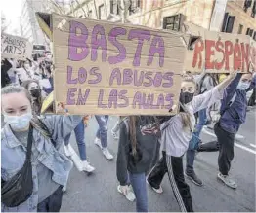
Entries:
<svg viewBox="0 0 256 213">
<path fill-rule="evenodd" d="M 96 61 L 98 58 L 98 50 L 101 49 L 101 60 L 102 62 L 107 62 L 109 64 L 118 64 L 124 61 L 127 57 L 126 47 L 118 41 L 119 36 L 127 35 L 127 40 L 134 42 L 137 40 L 137 49 L 133 59 L 133 66 L 141 65 L 141 55 L 143 45 L 149 45 L 149 53 L 147 66 L 152 64 L 155 54 L 158 57 L 159 67 L 164 66 L 164 40 L 161 36 L 154 34 L 151 35 L 151 32 L 146 29 L 127 29 L 124 27 L 113 27 L 110 29 L 108 36 L 105 32 L 105 27 L 101 24 L 97 24 L 93 27 L 92 31 L 89 31 L 87 27 L 78 21 L 71 20 L 69 21 L 69 38 L 68 38 L 68 59 L 71 61 L 81 61 L 90 54 L 91 52 L 91 61 Z M 91 33 L 91 35 L 89 35 Z M 90 38 L 90 41 L 89 41 Z M 116 49 L 115 56 L 107 57 L 107 50 L 113 52 L 110 47 L 107 47 L 108 42 L 114 46 Z M 149 44 L 146 44 L 149 43 Z"/>
</svg>

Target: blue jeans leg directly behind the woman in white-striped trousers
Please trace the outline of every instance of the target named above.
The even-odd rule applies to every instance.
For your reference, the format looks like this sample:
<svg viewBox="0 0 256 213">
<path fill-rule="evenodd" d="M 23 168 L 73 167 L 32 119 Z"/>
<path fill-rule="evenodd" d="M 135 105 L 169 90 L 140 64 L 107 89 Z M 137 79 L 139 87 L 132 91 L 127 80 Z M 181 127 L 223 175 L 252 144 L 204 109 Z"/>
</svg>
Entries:
<svg viewBox="0 0 256 213">
<path fill-rule="evenodd" d="M 199 114 L 199 122 L 195 126 L 195 130 L 192 133 L 192 140 L 189 143 L 189 149 L 187 150 L 187 167 L 186 171 L 188 173 L 193 172 L 193 162 L 195 157 L 195 149 L 198 147 L 199 143 L 199 136 L 201 133 L 201 130 L 203 128 L 203 125 L 207 123 L 207 115 L 206 115 L 206 109 L 200 110 L 198 112 Z"/>
</svg>

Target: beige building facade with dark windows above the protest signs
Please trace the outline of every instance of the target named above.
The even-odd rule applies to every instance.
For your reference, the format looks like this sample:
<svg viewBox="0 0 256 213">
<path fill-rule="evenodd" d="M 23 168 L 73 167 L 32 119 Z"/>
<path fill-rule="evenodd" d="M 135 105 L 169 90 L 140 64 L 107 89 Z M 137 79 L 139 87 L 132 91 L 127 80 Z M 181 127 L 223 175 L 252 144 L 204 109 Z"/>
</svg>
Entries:
<svg viewBox="0 0 256 213">
<path fill-rule="evenodd" d="M 176 31 L 201 27 L 256 40 L 255 11 L 256 0 L 77 0 L 66 14 Z"/>
</svg>

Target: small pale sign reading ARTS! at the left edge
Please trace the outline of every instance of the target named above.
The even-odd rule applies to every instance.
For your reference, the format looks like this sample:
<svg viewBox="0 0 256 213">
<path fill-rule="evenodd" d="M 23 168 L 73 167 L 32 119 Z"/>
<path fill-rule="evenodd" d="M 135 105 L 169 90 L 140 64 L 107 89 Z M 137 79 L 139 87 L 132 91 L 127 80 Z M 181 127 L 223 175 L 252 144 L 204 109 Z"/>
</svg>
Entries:
<svg viewBox="0 0 256 213">
<path fill-rule="evenodd" d="M 25 38 L 2 33 L 1 56 L 2 58 L 31 58 L 32 45 Z"/>
</svg>

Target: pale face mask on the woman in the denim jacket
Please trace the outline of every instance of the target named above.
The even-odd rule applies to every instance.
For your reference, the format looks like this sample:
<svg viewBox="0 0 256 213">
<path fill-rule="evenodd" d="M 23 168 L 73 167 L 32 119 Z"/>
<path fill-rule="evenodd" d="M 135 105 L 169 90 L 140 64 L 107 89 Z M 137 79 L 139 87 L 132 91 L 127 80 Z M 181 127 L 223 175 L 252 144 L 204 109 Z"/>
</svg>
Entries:
<svg viewBox="0 0 256 213">
<path fill-rule="evenodd" d="M 4 121 L 10 124 L 13 130 L 22 130 L 28 127 L 33 115 L 31 112 L 23 114 L 21 116 L 9 116 L 4 114 Z"/>
</svg>

